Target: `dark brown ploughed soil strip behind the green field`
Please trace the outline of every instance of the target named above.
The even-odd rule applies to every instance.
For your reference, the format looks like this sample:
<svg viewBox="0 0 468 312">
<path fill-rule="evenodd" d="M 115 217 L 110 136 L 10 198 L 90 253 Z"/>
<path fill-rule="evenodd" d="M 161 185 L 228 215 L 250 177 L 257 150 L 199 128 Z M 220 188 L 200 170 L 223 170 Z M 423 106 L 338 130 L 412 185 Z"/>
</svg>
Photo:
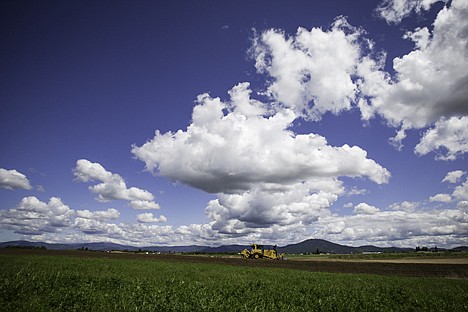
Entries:
<svg viewBox="0 0 468 312">
<path fill-rule="evenodd" d="M 241 259 L 233 257 L 220 256 L 187 256 L 187 255 L 146 255 L 134 253 L 108 253 L 108 252 L 92 252 L 92 251 L 54 251 L 54 250 L 34 250 L 34 249 L 0 249 L 0 254 L 20 254 L 28 255 L 54 255 L 54 256 L 73 256 L 73 257 L 92 257 L 92 258 L 109 258 L 109 259 L 133 259 L 133 260 L 159 260 L 159 261 L 176 261 L 176 262 L 191 262 L 191 263 L 212 263 L 222 265 L 249 266 L 259 268 L 282 268 L 305 270 L 311 272 L 331 272 L 331 273 L 360 273 L 360 274 L 378 274 L 378 275 L 396 275 L 396 276 L 415 276 L 415 277 L 446 277 L 446 278 L 461 278 L 468 279 L 468 264 L 457 263 L 456 259 L 448 259 L 453 261 L 444 263 L 443 259 L 438 263 L 420 263 L 420 262 L 394 262 L 391 260 L 374 261 L 374 260 L 253 260 Z M 463 260 L 463 259 L 462 259 Z"/>
</svg>

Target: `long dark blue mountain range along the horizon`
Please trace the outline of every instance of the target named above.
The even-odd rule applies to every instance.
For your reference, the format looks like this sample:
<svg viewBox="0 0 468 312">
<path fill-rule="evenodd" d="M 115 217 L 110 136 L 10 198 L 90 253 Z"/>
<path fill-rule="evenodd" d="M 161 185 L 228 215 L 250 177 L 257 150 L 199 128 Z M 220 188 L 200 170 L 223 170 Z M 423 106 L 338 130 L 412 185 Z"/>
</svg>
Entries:
<svg viewBox="0 0 468 312">
<path fill-rule="evenodd" d="M 23 247 L 23 248 L 47 248 L 49 250 L 66 250 L 66 249 L 87 249 L 87 250 L 148 250 L 154 252 L 199 252 L 199 253 L 236 253 L 240 252 L 244 248 L 249 249 L 250 246 L 246 245 L 225 245 L 219 247 L 208 247 L 208 246 L 147 246 L 147 247 L 135 247 L 129 245 L 120 245 L 114 243 L 82 243 L 82 244 L 49 244 L 42 242 L 29 242 L 24 240 L 3 242 L 0 243 L 0 248 L 6 247 Z M 265 248 L 271 248 L 271 246 L 265 246 Z M 363 253 L 363 252 L 408 252 L 413 251 L 413 248 L 398 248 L 398 247 L 376 247 L 372 245 L 352 247 L 340 244 L 335 244 L 323 239 L 308 239 L 297 244 L 290 244 L 284 247 L 278 247 L 278 252 L 289 253 L 289 254 L 301 254 L 301 253 L 314 253 L 317 250 L 321 253 L 333 253 L 333 254 L 351 254 L 351 253 Z M 440 249 L 442 250 L 442 249 Z M 451 251 L 468 251 L 468 246 L 460 246 L 451 249 Z"/>
</svg>

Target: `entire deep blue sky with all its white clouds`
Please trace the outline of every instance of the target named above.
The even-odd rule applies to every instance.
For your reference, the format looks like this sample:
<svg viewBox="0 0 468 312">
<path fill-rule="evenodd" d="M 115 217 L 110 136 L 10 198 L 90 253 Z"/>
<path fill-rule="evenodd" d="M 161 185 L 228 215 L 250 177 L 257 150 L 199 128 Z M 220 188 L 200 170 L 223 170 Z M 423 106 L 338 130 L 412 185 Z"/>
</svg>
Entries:
<svg viewBox="0 0 468 312">
<path fill-rule="evenodd" d="M 2 1 L 0 241 L 468 245 L 468 1 Z"/>
</svg>

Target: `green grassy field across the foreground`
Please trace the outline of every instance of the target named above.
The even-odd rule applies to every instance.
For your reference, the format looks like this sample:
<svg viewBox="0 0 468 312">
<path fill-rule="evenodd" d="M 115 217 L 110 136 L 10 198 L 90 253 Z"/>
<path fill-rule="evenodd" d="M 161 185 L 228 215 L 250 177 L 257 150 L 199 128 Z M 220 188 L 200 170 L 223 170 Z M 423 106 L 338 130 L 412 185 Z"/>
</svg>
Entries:
<svg viewBox="0 0 468 312">
<path fill-rule="evenodd" d="M 0 253 L 2 311 L 468 311 L 468 280 Z"/>
</svg>

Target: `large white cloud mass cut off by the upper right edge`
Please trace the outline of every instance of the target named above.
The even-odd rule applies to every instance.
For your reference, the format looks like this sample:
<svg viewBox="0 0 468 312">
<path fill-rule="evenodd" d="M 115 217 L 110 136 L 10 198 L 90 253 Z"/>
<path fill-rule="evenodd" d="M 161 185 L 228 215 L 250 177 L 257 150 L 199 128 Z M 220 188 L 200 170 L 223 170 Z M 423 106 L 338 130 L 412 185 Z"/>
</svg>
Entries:
<svg viewBox="0 0 468 312">
<path fill-rule="evenodd" d="M 400 3 L 395 1 L 392 3 Z M 429 1 L 432 2 L 432 1 Z M 429 2 L 419 1 L 429 7 Z M 403 2 L 401 2 L 403 3 Z M 410 2 L 414 7 L 415 1 Z M 414 51 L 393 60 L 395 78 L 387 81 L 368 79 L 365 84 L 374 93 L 367 105 L 361 105 L 363 119 L 377 113 L 394 127 L 400 127 L 392 142 L 401 146 L 408 129 L 420 129 L 435 123 L 418 144 L 416 152 L 426 154 L 440 147 L 452 160 L 467 152 L 468 131 L 468 3 L 452 1 L 434 21 L 434 28 L 417 28 L 405 38 L 415 43 Z M 376 75 L 380 69 L 371 70 Z M 363 89 L 364 90 L 364 89 Z"/>
</svg>

